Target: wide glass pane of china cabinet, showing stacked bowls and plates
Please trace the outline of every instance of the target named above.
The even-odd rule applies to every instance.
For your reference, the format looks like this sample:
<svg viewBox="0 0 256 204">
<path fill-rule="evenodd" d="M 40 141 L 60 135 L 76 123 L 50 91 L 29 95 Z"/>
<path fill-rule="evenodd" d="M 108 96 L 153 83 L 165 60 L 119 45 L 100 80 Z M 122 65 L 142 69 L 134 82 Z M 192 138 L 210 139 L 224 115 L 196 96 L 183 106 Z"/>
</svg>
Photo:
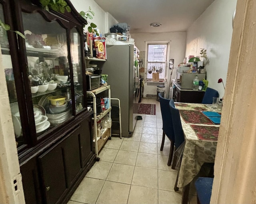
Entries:
<svg viewBox="0 0 256 204">
<path fill-rule="evenodd" d="M 37 136 L 72 116 L 67 30 L 39 13 L 22 13 Z"/>
</svg>

